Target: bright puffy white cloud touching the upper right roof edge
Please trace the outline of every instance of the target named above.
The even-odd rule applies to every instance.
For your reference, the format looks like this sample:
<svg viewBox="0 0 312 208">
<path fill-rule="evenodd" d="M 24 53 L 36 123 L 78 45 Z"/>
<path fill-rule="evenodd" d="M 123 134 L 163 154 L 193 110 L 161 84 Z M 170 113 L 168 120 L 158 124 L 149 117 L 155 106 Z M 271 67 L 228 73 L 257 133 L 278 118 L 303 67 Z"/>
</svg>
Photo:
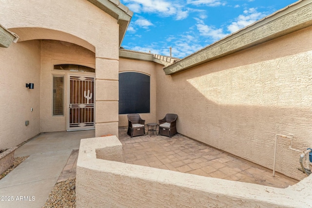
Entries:
<svg viewBox="0 0 312 208">
<path fill-rule="evenodd" d="M 263 14 L 261 12 L 257 12 L 256 8 L 246 9 L 246 10 L 244 10 L 244 14 L 243 15 L 239 15 L 235 19 L 235 21 L 232 22 L 228 26 L 228 30 L 231 33 L 234 33 L 236 31 L 240 30 L 241 28 L 244 28 L 244 27 L 254 23 L 258 19 L 261 19 L 261 18 L 263 18 L 265 16 L 266 16 L 266 14 Z"/>
</svg>

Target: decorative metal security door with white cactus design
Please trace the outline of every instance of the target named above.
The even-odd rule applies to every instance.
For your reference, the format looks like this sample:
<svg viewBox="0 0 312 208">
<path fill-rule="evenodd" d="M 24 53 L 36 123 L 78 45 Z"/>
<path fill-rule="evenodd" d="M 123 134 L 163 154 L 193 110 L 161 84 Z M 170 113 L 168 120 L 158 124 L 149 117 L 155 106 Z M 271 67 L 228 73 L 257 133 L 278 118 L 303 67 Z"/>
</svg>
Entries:
<svg viewBox="0 0 312 208">
<path fill-rule="evenodd" d="M 92 76 L 69 76 L 68 131 L 95 128 L 94 81 Z"/>
</svg>

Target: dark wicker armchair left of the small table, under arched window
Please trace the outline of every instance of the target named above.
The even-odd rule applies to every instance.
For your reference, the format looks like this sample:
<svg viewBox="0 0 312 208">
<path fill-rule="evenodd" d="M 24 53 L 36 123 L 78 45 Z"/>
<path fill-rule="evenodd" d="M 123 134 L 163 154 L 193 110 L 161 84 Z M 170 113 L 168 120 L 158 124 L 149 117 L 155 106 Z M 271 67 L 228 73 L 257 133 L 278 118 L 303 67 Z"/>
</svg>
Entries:
<svg viewBox="0 0 312 208">
<path fill-rule="evenodd" d="M 128 114 L 128 132 L 127 134 L 131 137 L 145 135 L 145 120 L 141 119 L 137 113 Z"/>
</svg>

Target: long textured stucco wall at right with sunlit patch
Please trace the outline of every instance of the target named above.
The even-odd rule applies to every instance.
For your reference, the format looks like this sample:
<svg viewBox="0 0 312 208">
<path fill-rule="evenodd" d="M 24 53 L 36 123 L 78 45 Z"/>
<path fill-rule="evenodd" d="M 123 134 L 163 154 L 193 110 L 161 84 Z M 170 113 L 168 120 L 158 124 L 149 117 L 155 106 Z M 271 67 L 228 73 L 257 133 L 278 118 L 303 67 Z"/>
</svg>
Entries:
<svg viewBox="0 0 312 208">
<path fill-rule="evenodd" d="M 312 146 L 311 36 L 309 27 L 172 76 L 157 71 L 156 116 L 176 113 L 177 132 L 273 169 L 276 133 Z M 278 140 L 276 171 L 302 179 L 290 143 Z"/>
</svg>

